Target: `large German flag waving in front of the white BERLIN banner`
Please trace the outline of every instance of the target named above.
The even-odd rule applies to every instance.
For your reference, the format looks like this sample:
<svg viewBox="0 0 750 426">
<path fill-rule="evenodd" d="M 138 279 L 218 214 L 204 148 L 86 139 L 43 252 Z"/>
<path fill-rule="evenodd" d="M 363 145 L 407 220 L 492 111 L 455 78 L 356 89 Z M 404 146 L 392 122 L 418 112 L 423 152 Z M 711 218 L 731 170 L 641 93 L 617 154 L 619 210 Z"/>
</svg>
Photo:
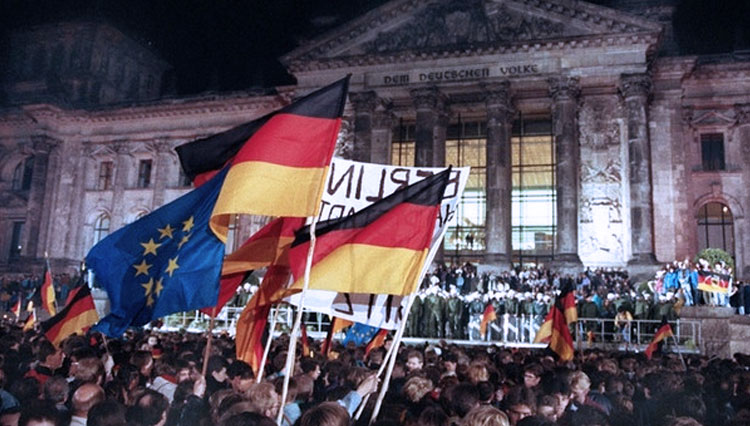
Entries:
<svg viewBox="0 0 750 426">
<path fill-rule="evenodd" d="M 315 231 L 310 288 L 340 293 L 407 295 L 416 290 L 437 220 L 450 167 Z M 289 250 L 295 283 L 302 288 L 309 227 Z"/>
</svg>

